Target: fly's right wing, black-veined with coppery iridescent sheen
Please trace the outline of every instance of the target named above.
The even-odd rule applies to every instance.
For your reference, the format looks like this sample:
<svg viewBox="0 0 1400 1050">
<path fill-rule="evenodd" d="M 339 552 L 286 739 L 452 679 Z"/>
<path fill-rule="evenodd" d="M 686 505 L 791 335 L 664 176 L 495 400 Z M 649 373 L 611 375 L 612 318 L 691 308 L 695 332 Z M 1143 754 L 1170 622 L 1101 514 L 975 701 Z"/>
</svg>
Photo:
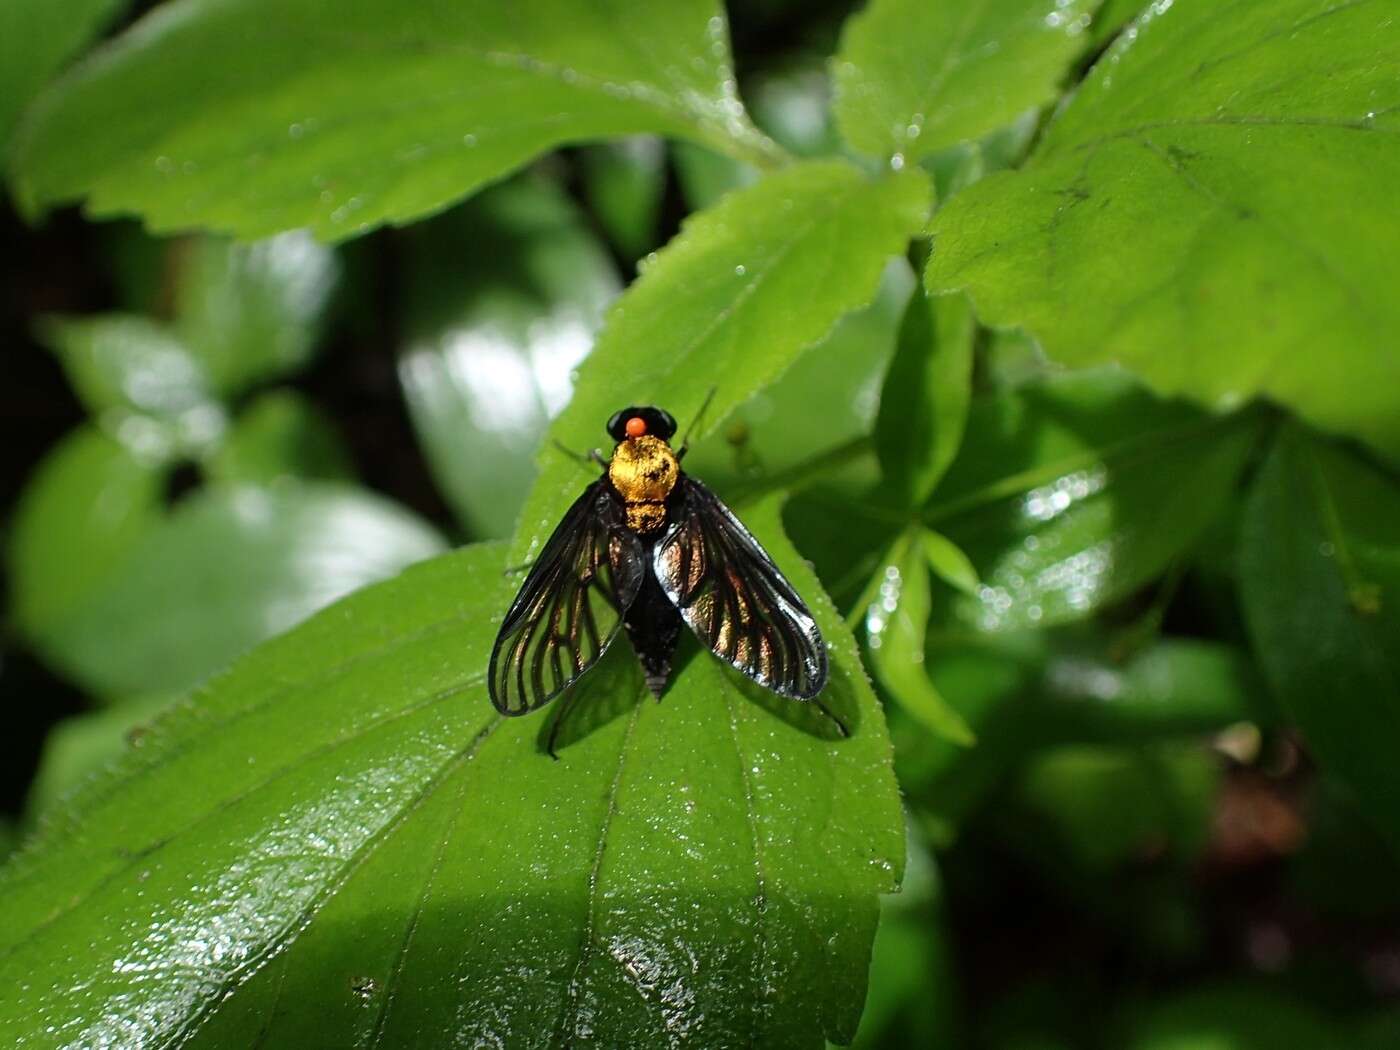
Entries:
<svg viewBox="0 0 1400 1050">
<path fill-rule="evenodd" d="M 774 693 L 811 700 L 826 685 L 812 613 L 714 493 L 687 475 L 676 489 L 652 552 L 661 589 L 720 659 Z"/>
</svg>

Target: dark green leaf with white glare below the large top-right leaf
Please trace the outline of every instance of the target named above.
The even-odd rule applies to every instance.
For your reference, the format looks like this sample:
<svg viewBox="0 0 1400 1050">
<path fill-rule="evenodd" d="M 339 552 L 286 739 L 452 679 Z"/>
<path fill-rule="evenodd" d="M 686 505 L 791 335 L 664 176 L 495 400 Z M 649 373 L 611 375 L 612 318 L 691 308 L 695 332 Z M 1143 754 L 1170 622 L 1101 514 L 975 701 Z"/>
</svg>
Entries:
<svg viewBox="0 0 1400 1050">
<path fill-rule="evenodd" d="M 1158 400 L 1116 372 L 979 399 L 924 519 L 983 584 L 938 619 L 1047 627 L 1131 594 L 1224 510 L 1259 424 Z"/>
</svg>

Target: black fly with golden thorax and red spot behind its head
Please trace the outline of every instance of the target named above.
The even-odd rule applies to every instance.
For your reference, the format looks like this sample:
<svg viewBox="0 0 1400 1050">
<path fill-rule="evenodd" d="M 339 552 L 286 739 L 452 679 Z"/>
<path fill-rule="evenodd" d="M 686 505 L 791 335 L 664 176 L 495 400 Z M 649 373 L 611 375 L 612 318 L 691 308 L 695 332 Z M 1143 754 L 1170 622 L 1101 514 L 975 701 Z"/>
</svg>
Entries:
<svg viewBox="0 0 1400 1050">
<path fill-rule="evenodd" d="M 734 512 L 682 472 L 686 444 L 673 451 L 675 433 L 676 421 L 655 407 L 627 407 L 608 421 L 617 444 L 610 459 L 595 454 L 603 475 L 549 538 L 496 637 L 490 693 L 501 714 L 547 704 L 622 627 L 658 699 L 682 623 L 780 696 L 811 700 L 826 685 L 812 613 Z"/>
</svg>

